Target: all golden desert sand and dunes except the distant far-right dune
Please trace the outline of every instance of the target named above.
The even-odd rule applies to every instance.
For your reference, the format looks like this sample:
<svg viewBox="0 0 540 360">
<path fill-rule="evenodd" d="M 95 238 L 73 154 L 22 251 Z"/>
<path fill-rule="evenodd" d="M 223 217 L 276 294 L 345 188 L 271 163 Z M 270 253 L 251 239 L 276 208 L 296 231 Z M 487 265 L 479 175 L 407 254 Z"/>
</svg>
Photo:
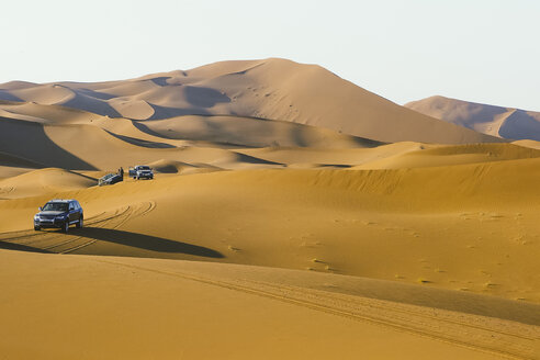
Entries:
<svg viewBox="0 0 540 360">
<path fill-rule="evenodd" d="M 540 359 L 537 142 L 283 59 L 0 99 L 0 358 Z"/>
</svg>

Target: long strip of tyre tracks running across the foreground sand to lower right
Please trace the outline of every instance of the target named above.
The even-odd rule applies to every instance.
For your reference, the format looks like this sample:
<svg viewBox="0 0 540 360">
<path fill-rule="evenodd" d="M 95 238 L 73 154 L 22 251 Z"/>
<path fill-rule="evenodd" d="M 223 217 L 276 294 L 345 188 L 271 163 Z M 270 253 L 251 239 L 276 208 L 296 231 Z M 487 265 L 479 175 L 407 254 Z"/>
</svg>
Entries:
<svg viewBox="0 0 540 360">
<path fill-rule="evenodd" d="M 269 297 L 508 359 L 540 359 L 540 353 L 536 352 L 540 327 L 535 325 L 280 283 L 99 261 Z"/>
</svg>

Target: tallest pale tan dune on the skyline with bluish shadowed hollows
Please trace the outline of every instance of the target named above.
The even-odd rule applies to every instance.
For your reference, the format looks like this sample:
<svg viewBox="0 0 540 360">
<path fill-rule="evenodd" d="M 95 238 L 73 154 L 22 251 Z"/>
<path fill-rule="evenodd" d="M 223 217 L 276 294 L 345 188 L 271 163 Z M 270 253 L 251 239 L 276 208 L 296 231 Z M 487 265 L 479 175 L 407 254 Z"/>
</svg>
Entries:
<svg viewBox="0 0 540 360">
<path fill-rule="evenodd" d="M 216 63 L 125 81 L 8 83 L 0 90 L 26 102 L 111 117 L 233 115 L 314 125 L 382 142 L 497 142 L 394 104 L 318 66 L 275 58 Z"/>
</svg>

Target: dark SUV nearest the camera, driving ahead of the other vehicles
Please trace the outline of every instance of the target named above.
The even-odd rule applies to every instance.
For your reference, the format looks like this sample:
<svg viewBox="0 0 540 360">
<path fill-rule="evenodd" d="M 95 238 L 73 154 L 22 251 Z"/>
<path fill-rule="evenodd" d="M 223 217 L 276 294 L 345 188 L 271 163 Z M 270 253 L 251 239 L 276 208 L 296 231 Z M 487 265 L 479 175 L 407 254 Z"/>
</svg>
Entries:
<svg viewBox="0 0 540 360">
<path fill-rule="evenodd" d="M 77 200 L 50 200 L 34 215 L 34 229 L 58 227 L 67 233 L 69 225 L 82 227 L 82 207 Z"/>
</svg>

